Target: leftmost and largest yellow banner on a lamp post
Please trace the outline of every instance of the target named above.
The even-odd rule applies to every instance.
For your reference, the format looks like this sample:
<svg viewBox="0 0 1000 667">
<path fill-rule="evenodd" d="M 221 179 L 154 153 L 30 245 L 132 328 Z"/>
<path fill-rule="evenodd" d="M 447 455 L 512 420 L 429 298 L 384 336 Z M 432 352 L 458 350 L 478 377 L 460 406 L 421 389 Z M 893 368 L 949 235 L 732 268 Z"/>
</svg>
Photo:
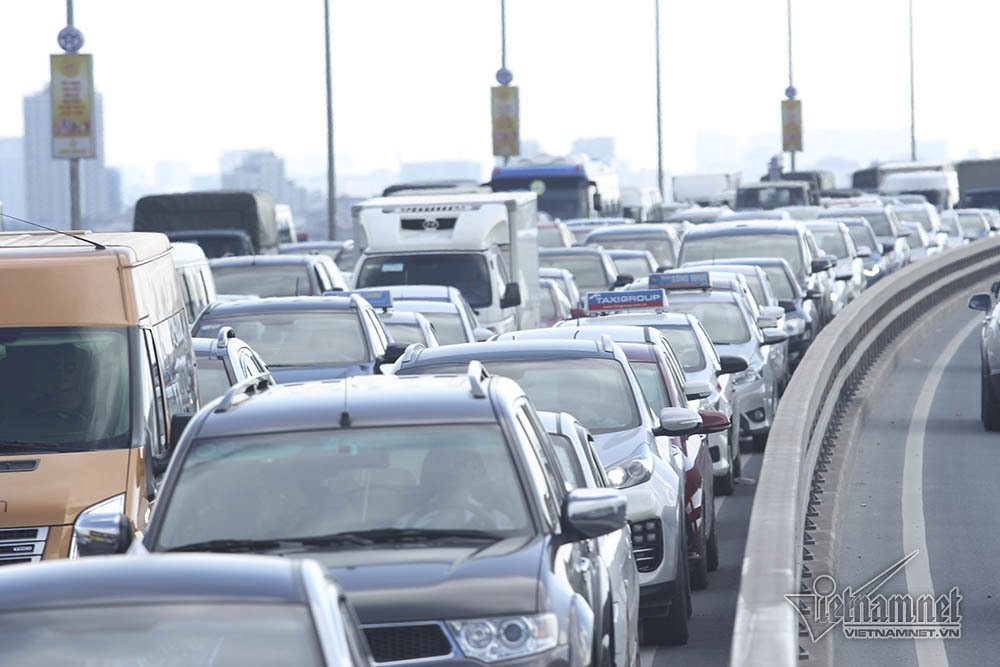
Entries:
<svg viewBox="0 0 1000 667">
<path fill-rule="evenodd" d="M 91 56 L 50 56 L 52 157 L 97 157 L 94 138 L 94 72 Z"/>
</svg>

